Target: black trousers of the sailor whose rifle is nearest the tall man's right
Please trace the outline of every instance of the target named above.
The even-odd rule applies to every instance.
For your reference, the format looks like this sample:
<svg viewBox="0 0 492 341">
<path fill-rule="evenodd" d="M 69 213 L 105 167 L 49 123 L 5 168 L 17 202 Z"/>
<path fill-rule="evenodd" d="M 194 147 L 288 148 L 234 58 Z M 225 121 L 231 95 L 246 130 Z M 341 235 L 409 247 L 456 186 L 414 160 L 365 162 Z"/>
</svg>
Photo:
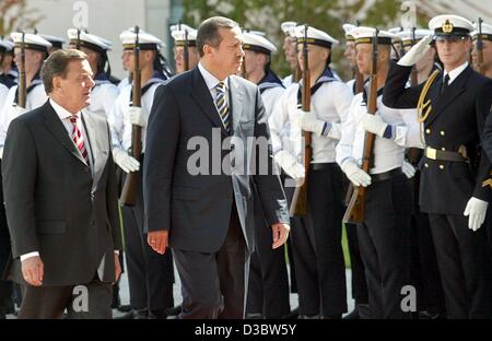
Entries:
<svg viewBox="0 0 492 341">
<path fill-rule="evenodd" d="M 309 169 L 308 181 L 307 216 L 291 220 L 298 310 L 305 316 L 341 315 L 347 311 L 342 173 L 337 164 L 328 164 Z M 292 198 L 293 189 L 286 191 Z"/>
</svg>

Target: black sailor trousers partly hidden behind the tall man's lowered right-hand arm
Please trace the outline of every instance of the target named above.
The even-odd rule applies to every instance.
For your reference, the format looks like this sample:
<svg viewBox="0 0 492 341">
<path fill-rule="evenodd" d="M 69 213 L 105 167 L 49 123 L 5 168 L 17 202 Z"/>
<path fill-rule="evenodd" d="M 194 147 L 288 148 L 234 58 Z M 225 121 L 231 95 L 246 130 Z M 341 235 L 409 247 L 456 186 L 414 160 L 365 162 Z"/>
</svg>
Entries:
<svg viewBox="0 0 492 341">
<path fill-rule="evenodd" d="M 246 314 L 281 318 L 290 313 L 289 277 L 284 248 L 272 249 L 272 230 L 268 226 L 258 196 L 255 202 L 255 243 L 249 267 Z"/>
</svg>

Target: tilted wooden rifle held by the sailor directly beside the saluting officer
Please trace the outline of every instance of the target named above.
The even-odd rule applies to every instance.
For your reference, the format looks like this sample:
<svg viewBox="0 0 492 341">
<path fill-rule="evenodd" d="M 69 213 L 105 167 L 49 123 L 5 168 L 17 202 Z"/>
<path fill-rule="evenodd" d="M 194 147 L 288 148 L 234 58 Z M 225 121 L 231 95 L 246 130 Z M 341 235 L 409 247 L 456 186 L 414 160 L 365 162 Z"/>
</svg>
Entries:
<svg viewBox="0 0 492 341">
<path fill-rule="evenodd" d="M 379 31 L 376 28 L 373 37 L 373 58 L 371 68 L 371 90 L 367 103 L 367 113 L 376 114 L 377 110 L 377 36 Z M 374 162 L 374 141 L 376 136 L 371 132 L 365 132 L 364 151 L 362 156 L 362 169 L 370 173 Z M 345 214 L 343 215 L 344 223 L 362 223 L 364 221 L 365 197 L 367 189 L 359 186 L 354 189 L 352 198 L 350 199 Z"/>
</svg>

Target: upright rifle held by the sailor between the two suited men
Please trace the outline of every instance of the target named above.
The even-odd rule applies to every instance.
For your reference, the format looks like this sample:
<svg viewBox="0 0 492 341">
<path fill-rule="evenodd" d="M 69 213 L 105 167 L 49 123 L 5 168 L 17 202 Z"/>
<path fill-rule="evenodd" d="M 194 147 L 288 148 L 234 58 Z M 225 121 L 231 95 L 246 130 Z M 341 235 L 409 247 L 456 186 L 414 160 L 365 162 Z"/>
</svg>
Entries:
<svg viewBox="0 0 492 341">
<path fill-rule="evenodd" d="M 134 27 L 134 48 L 133 48 L 133 86 L 132 86 L 132 106 L 141 106 L 142 89 L 140 86 L 141 82 L 141 70 L 140 70 L 140 43 L 139 43 L 139 26 Z M 142 154 L 142 127 L 133 125 L 131 127 L 131 156 L 140 161 Z M 125 205 L 134 205 L 137 197 L 137 172 L 130 172 L 127 174 L 125 179 L 125 185 L 121 190 L 121 197 L 119 198 L 121 203 Z"/>
</svg>

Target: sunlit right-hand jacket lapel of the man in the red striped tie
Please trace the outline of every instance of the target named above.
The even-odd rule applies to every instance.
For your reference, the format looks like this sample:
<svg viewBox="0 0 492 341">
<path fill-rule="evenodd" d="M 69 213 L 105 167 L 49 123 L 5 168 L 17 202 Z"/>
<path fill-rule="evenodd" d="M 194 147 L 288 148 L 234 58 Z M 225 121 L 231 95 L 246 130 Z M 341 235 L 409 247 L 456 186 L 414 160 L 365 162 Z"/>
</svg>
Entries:
<svg viewBox="0 0 492 341">
<path fill-rule="evenodd" d="M 82 111 L 82 124 L 84 125 L 85 134 L 87 137 L 89 146 L 91 149 L 93 189 L 99 183 L 104 167 L 108 157 L 109 141 L 103 137 L 107 137 L 107 131 L 101 129 L 103 125 L 97 125 L 90 114 Z M 104 142 L 104 144 L 102 144 Z"/>
</svg>

